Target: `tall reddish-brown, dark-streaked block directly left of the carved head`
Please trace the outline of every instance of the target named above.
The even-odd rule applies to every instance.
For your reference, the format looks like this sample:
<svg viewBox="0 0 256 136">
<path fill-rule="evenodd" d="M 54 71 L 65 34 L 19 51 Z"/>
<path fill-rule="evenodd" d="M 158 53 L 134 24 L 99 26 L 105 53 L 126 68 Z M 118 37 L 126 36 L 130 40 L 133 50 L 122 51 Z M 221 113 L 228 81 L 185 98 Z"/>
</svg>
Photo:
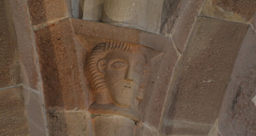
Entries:
<svg viewBox="0 0 256 136">
<path fill-rule="evenodd" d="M 46 108 L 84 109 L 69 19 L 35 31 Z"/>
</svg>

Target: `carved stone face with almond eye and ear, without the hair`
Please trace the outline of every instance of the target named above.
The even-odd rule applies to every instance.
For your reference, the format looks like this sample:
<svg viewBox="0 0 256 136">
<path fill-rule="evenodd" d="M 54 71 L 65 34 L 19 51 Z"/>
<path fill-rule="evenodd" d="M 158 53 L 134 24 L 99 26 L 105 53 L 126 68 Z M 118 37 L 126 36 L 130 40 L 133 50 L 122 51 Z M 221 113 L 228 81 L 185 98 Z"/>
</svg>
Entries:
<svg viewBox="0 0 256 136">
<path fill-rule="evenodd" d="M 104 74 L 113 103 L 122 107 L 130 106 L 142 82 L 144 55 L 128 51 L 110 51 L 99 60 L 97 66 Z"/>
</svg>

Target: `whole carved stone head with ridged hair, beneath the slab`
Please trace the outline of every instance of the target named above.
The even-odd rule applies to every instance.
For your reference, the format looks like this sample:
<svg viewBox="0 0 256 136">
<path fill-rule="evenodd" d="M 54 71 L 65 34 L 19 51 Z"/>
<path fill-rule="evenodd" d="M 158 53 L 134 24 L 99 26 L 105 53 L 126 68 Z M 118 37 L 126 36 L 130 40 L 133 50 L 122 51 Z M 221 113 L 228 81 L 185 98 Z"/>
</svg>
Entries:
<svg viewBox="0 0 256 136">
<path fill-rule="evenodd" d="M 89 56 L 95 102 L 129 107 L 147 67 L 145 47 L 118 41 L 96 45 Z"/>
</svg>

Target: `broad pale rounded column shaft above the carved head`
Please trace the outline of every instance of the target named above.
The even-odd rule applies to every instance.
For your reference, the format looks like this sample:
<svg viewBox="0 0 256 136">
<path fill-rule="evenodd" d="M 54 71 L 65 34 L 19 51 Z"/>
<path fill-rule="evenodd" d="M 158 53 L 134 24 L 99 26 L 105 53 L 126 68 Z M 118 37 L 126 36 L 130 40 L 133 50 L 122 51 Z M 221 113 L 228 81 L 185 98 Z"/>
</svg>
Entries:
<svg viewBox="0 0 256 136">
<path fill-rule="evenodd" d="M 146 30 L 148 0 L 104 0 L 101 21 Z"/>
</svg>

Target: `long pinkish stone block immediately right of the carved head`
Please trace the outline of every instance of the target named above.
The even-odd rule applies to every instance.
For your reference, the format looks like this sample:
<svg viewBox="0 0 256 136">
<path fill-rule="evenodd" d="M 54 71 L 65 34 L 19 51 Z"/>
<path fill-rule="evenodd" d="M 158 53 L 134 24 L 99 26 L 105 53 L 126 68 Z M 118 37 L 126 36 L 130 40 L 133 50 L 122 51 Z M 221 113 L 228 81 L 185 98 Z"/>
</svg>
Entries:
<svg viewBox="0 0 256 136">
<path fill-rule="evenodd" d="M 143 101 L 138 106 L 138 111 L 140 111 L 143 121 L 156 130 L 158 130 L 160 125 L 166 95 L 177 58 L 178 55 L 170 41 L 166 50 L 152 60 L 151 77 L 148 87 L 144 92 Z"/>
</svg>

